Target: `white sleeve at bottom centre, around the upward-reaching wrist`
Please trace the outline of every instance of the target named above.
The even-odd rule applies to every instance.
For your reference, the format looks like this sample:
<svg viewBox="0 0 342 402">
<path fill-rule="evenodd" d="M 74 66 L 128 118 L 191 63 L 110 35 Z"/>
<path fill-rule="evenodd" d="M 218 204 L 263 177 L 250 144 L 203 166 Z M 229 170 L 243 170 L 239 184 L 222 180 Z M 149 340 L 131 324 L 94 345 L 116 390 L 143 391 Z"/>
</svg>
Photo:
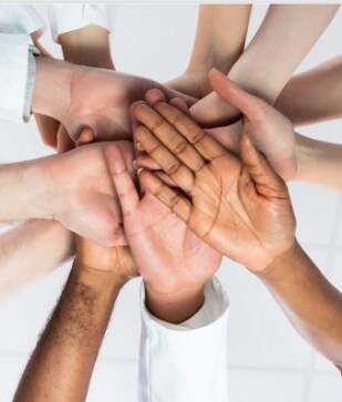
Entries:
<svg viewBox="0 0 342 402">
<path fill-rule="evenodd" d="M 148 312 L 142 291 L 139 402 L 227 402 L 228 298 L 214 278 L 205 303 L 182 324 Z"/>
</svg>

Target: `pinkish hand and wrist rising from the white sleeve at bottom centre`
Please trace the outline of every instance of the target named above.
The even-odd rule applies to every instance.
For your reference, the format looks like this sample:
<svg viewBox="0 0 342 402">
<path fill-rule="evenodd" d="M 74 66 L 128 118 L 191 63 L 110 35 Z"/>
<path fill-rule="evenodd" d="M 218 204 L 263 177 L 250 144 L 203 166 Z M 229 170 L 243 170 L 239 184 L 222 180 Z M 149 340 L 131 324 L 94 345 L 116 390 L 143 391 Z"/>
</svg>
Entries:
<svg viewBox="0 0 342 402">
<path fill-rule="evenodd" d="M 163 311 L 167 316 L 163 318 L 182 322 L 201 306 L 204 285 L 218 269 L 221 256 L 155 196 L 146 193 L 139 198 L 120 148 L 107 148 L 106 155 L 121 202 L 125 235 L 146 284 L 149 310 L 160 318 L 164 302 L 168 311 Z M 170 305 L 175 300 L 182 300 L 182 306 L 173 315 Z"/>
</svg>

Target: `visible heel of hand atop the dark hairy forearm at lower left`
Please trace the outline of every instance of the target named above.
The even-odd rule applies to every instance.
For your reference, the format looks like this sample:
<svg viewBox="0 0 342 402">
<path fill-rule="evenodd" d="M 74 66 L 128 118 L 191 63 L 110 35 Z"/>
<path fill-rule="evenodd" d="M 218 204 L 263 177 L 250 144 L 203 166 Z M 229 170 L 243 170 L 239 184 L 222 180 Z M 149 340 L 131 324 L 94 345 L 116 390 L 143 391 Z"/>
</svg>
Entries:
<svg viewBox="0 0 342 402">
<path fill-rule="evenodd" d="M 127 246 L 101 247 L 76 236 L 76 262 L 83 269 L 115 274 L 121 282 L 126 282 L 138 276 L 136 265 Z"/>
</svg>

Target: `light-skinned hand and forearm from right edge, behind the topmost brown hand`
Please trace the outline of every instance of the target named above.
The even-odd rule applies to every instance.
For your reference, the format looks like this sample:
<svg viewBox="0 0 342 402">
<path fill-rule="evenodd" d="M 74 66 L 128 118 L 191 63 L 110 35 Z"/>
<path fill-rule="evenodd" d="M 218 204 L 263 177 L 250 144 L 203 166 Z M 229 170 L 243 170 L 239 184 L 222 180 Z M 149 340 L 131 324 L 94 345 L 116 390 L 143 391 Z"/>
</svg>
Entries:
<svg viewBox="0 0 342 402">
<path fill-rule="evenodd" d="M 224 74 L 210 74 L 213 87 L 224 102 L 243 114 L 242 123 L 253 144 L 286 181 L 304 181 L 342 189 L 342 145 L 297 134 L 292 123 L 267 102 L 234 85 Z M 336 85 L 338 86 L 338 85 Z M 220 131 L 215 128 L 214 131 Z M 214 132 L 213 131 L 213 132 Z M 238 135 L 224 128 L 218 138 L 238 152 Z"/>
</svg>

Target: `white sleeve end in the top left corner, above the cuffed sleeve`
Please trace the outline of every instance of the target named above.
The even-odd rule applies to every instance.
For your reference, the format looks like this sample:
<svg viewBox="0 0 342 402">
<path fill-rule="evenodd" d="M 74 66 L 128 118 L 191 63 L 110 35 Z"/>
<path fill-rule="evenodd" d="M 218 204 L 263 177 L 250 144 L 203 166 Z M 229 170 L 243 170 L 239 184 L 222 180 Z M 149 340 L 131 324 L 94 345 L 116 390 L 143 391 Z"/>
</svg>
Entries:
<svg viewBox="0 0 342 402">
<path fill-rule="evenodd" d="M 1 33 L 37 33 L 40 37 L 45 23 L 33 6 L 1 4 L 0 32 Z"/>
</svg>

